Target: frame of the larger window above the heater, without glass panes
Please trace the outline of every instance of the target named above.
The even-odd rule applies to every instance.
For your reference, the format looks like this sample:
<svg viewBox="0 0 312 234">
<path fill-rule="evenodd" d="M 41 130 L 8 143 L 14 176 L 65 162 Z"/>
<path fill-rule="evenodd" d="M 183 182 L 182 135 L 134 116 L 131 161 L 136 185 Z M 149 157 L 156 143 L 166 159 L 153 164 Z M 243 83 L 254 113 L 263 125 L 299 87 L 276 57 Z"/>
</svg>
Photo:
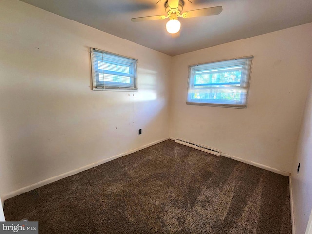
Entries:
<svg viewBox="0 0 312 234">
<path fill-rule="evenodd" d="M 235 59 L 226 59 L 226 60 L 219 60 L 195 65 L 189 65 L 189 77 L 188 77 L 188 88 L 187 88 L 187 101 L 186 104 L 188 105 L 202 105 L 202 106 L 215 106 L 215 107 L 229 107 L 229 108 L 239 108 L 239 109 L 246 109 L 247 108 L 247 100 L 248 100 L 248 93 L 249 93 L 249 84 L 250 84 L 250 74 L 251 74 L 251 67 L 252 67 L 252 60 L 254 56 L 246 56 L 241 58 Z M 226 66 L 225 66 L 226 65 Z M 203 71 L 206 74 L 217 74 L 222 73 L 224 70 L 220 72 L 213 71 L 214 69 L 219 68 L 231 68 L 235 66 L 241 66 L 241 69 L 237 69 L 241 71 L 241 79 L 240 82 L 221 82 L 221 83 L 204 83 L 204 84 L 195 84 L 195 73 L 198 71 Z M 236 70 L 236 71 L 237 71 Z M 234 86 L 238 85 L 239 86 Z M 230 86 L 227 86 L 230 85 Z M 232 85 L 232 86 L 231 86 Z M 227 87 L 226 87 L 227 86 Z M 210 90 L 210 93 L 213 94 L 214 90 L 237 90 L 240 92 L 240 99 L 241 101 L 235 100 L 223 100 L 220 101 L 219 99 L 212 99 L 212 98 L 194 98 L 195 92 L 200 92 L 203 90 Z M 220 92 L 219 92 L 220 93 Z M 203 101 L 203 100 L 206 100 Z"/>
</svg>

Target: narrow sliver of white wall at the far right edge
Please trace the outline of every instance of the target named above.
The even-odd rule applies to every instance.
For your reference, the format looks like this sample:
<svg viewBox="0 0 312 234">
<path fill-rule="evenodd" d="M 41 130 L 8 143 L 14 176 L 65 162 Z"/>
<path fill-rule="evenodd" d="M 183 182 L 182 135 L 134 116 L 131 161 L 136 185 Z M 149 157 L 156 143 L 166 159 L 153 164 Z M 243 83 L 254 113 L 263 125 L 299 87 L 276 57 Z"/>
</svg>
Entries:
<svg viewBox="0 0 312 234">
<path fill-rule="evenodd" d="M 312 47 L 310 48 L 312 53 Z M 311 61 L 311 60 L 310 60 Z M 312 74 L 312 73 L 311 73 Z M 310 74 L 310 77 L 312 76 Z M 297 173 L 300 163 L 299 173 Z M 301 125 L 291 180 L 296 234 L 304 234 L 312 209 L 312 82 Z"/>
</svg>

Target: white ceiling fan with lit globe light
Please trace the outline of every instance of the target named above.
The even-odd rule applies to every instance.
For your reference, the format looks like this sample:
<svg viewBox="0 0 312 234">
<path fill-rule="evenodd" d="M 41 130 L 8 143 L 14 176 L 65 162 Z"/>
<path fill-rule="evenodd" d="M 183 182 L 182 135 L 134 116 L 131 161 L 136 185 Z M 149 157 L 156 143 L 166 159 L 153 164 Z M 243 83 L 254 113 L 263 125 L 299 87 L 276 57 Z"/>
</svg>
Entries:
<svg viewBox="0 0 312 234">
<path fill-rule="evenodd" d="M 212 15 L 219 15 L 222 11 L 222 6 L 216 7 L 209 7 L 209 8 L 202 8 L 193 11 L 186 11 L 182 13 L 184 6 L 183 0 L 167 0 L 165 2 L 165 11 L 167 16 L 160 15 L 160 16 L 145 16 L 145 17 L 138 17 L 132 18 L 132 22 L 142 22 L 142 21 L 149 21 L 149 20 L 164 20 L 169 18 L 169 21 L 166 24 L 166 29 L 168 33 L 176 34 L 180 31 L 181 23 L 177 20 L 179 17 L 183 18 L 191 18 L 191 17 L 198 17 L 198 16 L 212 16 Z"/>
</svg>

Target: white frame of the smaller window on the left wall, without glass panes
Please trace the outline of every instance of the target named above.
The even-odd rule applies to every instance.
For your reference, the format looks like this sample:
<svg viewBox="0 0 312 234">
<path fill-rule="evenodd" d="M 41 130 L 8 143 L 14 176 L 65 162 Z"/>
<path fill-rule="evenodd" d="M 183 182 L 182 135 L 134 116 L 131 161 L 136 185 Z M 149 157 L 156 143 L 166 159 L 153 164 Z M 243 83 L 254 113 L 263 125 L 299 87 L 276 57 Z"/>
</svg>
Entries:
<svg viewBox="0 0 312 234">
<path fill-rule="evenodd" d="M 92 53 L 101 53 L 102 59 L 96 59 L 96 56 L 93 56 Z M 104 59 L 104 56 L 107 55 L 108 57 L 112 56 L 112 59 Z M 100 90 L 100 91 L 137 91 L 137 63 L 138 59 L 134 59 L 131 57 L 122 56 L 119 54 L 111 53 L 104 50 L 99 50 L 96 48 L 90 47 L 90 56 L 91 56 L 91 71 L 92 71 L 92 89 L 93 90 Z M 117 59 L 117 60 L 116 60 Z M 102 63 L 102 68 L 99 68 L 99 63 Z M 124 66 L 129 67 L 129 73 L 123 73 L 120 71 L 112 71 L 112 70 L 105 70 L 104 63 L 116 65 L 116 66 Z M 103 71 L 99 73 L 99 71 Z M 101 81 L 100 74 L 107 75 L 116 75 L 116 76 L 124 76 L 129 77 L 130 83 L 124 82 L 114 82 L 114 81 Z"/>
</svg>

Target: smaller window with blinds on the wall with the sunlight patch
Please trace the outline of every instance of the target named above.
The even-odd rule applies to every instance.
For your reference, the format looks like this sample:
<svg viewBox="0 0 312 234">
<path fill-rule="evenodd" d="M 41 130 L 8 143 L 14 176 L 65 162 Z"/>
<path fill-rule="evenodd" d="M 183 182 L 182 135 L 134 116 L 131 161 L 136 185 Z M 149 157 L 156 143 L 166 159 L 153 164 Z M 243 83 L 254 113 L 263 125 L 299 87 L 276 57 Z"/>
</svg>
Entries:
<svg viewBox="0 0 312 234">
<path fill-rule="evenodd" d="M 137 90 L 137 59 L 90 50 L 93 90 Z"/>
</svg>

